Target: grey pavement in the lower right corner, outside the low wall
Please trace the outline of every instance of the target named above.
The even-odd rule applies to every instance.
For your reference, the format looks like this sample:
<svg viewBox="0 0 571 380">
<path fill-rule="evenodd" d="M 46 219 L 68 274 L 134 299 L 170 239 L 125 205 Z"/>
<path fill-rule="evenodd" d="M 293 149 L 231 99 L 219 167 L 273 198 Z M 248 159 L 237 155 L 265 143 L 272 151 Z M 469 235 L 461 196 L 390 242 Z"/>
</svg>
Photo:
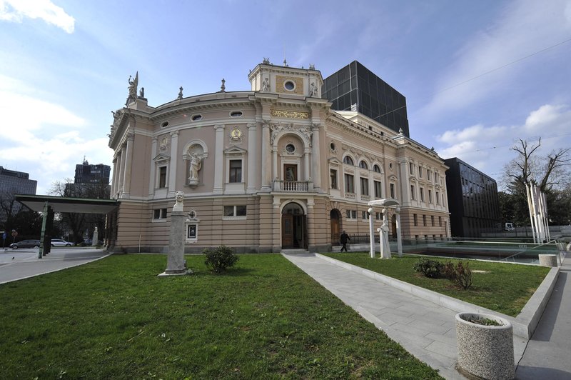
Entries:
<svg viewBox="0 0 571 380">
<path fill-rule="evenodd" d="M 571 379 L 571 259 L 564 259 L 551 298 L 527 344 L 517 379 Z"/>
</svg>

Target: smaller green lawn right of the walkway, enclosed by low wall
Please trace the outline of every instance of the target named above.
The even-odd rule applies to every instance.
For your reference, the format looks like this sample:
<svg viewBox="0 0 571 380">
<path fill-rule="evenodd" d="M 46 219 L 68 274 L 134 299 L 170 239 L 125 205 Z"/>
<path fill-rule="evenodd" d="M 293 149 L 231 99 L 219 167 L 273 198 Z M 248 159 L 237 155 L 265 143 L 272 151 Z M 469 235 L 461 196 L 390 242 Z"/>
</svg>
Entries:
<svg viewBox="0 0 571 380">
<path fill-rule="evenodd" d="M 361 253 L 326 254 L 326 256 L 509 316 L 520 314 L 523 306 L 550 271 L 550 268 L 543 266 L 470 260 L 468 263 L 473 271 L 474 282 L 472 288 L 464 290 L 454 286 L 448 279 L 429 279 L 415 273 L 413 265 L 419 256 L 405 255 L 402 258 L 393 256 L 390 260 L 370 259 L 369 254 Z M 429 258 L 442 262 L 449 261 L 449 259 Z M 458 262 L 454 259 L 450 261 Z"/>
</svg>

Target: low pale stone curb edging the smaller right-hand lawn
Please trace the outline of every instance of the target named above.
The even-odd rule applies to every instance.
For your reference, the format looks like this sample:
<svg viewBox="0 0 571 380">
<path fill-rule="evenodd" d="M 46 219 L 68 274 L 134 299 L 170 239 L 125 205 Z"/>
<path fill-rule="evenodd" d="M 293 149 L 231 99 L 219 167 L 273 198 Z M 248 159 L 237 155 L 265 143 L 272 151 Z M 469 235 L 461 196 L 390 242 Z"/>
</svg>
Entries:
<svg viewBox="0 0 571 380">
<path fill-rule="evenodd" d="M 552 268 L 550 272 L 545 276 L 540 286 L 537 288 L 533 296 L 527 301 L 522 312 L 517 317 L 507 316 L 505 314 L 498 313 L 490 309 L 486 309 L 475 304 L 470 304 L 469 302 L 460 301 L 450 296 L 445 296 L 443 294 L 431 291 L 428 289 L 421 288 L 413 284 L 408 284 L 408 282 L 400 281 L 398 279 L 393 279 L 392 277 L 385 276 L 383 274 L 378 274 L 374 271 L 368 269 L 363 269 L 360 266 L 355 266 L 353 264 L 348 264 L 343 261 L 332 259 L 328 256 L 322 254 L 315 254 L 316 257 L 328 261 L 330 264 L 340 266 L 349 271 L 354 271 L 358 274 L 363 274 L 375 281 L 382 282 L 388 286 L 393 286 L 395 289 L 405 291 L 407 293 L 418 296 L 427 301 L 433 302 L 434 304 L 444 306 L 448 309 L 460 312 L 469 313 L 485 313 L 500 316 L 509 320 L 513 326 L 513 333 L 525 339 L 530 339 L 533 331 L 537 327 L 540 321 L 541 315 L 547 306 L 547 302 L 550 299 L 555 282 L 557 282 L 557 277 L 559 277 L 559 268 Z"/>
</svg>

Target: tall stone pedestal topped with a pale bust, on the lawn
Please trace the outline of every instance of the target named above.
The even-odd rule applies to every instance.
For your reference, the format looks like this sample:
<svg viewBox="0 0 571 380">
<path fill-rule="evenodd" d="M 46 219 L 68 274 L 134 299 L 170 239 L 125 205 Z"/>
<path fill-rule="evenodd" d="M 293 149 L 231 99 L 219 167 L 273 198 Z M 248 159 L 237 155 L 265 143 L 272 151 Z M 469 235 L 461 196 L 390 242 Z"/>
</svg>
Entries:
<svg viewBox="0 0 571 380">
<path fill-rule="evenodd" d="M 186 268 L 184 259 L 184 226 L 186 215 L 183 211 L 184 193 L 176 191 L 176 203 L 171 214 L 171 237 L 168 242 L 168 258 L 166 270 L 159 276 L 177 276 L 190 274 L 192 271 Z"/>
</svg>

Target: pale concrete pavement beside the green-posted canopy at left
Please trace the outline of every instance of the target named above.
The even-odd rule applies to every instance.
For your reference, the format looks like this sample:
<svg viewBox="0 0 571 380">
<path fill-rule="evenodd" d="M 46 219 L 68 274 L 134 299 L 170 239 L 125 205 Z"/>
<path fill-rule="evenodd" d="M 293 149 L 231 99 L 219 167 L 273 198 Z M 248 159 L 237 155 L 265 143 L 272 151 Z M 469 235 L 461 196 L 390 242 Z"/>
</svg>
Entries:
<svg viewBox="0 0 571 380">
<path fill-rule="evenodd" d="M 27 279 L 61 269 L 86 264 L 108 256 L 94 248 L 52 248 L 38 259 L 37 249 L 0 249 L 0 284 Z"/>
</svg>

